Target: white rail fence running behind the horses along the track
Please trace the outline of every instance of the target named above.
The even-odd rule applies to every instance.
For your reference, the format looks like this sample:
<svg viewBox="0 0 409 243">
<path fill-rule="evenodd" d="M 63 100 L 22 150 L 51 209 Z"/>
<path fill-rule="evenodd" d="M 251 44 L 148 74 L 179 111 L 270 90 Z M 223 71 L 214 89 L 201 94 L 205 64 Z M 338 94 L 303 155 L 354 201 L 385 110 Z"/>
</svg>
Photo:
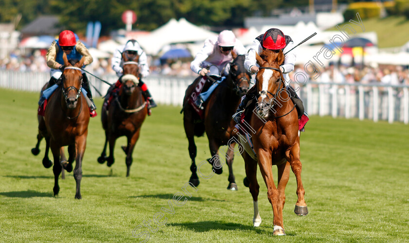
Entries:
<svg viewBox="0 0 409 243">
<path fill-rule="evenodd" d="M 107 84 L 88 77 L 102 94 L 107 92 Z M 0 87 L 40 91 L 49 78 L 49 73 L 0 70 Z M 194 78 L 151 75 L 144 81 L 158 103 L 182 105 L 186 87 Z M 114 83 L 117 77 L 102 76 L 101 79 Z M 309 82 L 297 93 L 309 114 L 409 123 L 408 85 Z"/>
</svg>

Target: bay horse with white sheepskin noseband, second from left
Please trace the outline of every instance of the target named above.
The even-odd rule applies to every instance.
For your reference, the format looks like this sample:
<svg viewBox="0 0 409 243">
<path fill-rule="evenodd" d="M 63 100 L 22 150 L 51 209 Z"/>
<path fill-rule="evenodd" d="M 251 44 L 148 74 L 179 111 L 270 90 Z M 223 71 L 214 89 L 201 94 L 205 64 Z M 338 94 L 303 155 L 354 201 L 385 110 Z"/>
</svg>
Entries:
<svg viewBox="0 0 409 243">
<path fill-rule="evenodd" d="M 130 174 L 130 165 L 132 164 L 132 152 L 139 139 L 142 123 L 148 113 L 147 101 L 142 95 L 142 90 L 138 87 L 140 79 L 139 56 L 129 60 L 124 52 L 123 76 L 121 77 L 121 88 L 117 94 L 114 94 L 112 103 L 108 110 L 103 106 L 101 111 L 102 128 L 105 130 L 105 144 L 99 163 L 107 161 L 109 167 L 115 162 L 113 151 L 117 138 L 126 136 L 127 146 L 122 146 L 127 155 L 125 162 L 127 165 L 127 177 Z M 111 92 L 109 90 L 108 92 Z M 107 144 L 110 144 L 110 156 L 106 156 Z"/>
</svg>

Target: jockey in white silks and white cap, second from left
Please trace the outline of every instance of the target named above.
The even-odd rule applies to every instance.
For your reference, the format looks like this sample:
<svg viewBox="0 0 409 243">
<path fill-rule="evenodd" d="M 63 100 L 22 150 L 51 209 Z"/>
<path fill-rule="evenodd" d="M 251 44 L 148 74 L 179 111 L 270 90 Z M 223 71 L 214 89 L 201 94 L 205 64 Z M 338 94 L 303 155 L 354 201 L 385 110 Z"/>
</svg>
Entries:
<svg viewBox="0 0 409 243">
<path fill-rule="evenodd" d="M 125 52 L 125 55 L 128 57 L 129 60 L 133 60 L 139 55 L 138 65 L 141 70 L 141 74 L 139 77 L 138 86 L 142 90 L 142 95 L 148 101 L 148 115 L 150 115 L 150 109 L 156 107 L 156 103 L 153 100 L 150 92 L 148 90 L 148 86 L 142 81 L 142 78 L 149 76 L 149 65 L 148 65 L 148 58 L 146 56 L 145 51 L 141 48 L 139 43 L 134 40 L 130 39 L 127 41 L 125 46 L 120 46 L 113 52 L 112 57 L 112 70 L 116 72 L 116 75 L 119 77 L 119 80 L 115 83 L 115 88 L 108 90 L 108 94 L 105 97 L 104 105 L 108 106 L 111 102 L 111 95 L 122 85 L 121 77 L 123 76 L 123 65 L 124 61 L 122 60 L 122 53 Z M 107 107 L 108 108 L 108 107 Z"/>
</svg>

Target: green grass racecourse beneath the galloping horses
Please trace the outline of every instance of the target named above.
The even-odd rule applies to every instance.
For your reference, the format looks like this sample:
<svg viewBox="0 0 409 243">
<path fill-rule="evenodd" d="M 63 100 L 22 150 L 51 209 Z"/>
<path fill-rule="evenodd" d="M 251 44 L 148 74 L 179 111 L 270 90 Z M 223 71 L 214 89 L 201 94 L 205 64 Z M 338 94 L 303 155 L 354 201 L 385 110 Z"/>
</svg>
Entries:
<svg viewBox="0 0 409 243">
<path fill-rule="evenodd" d="M 91 119 L 82 166 L 82 200 L 72 173 L 60 180 L 31 154 L 37 135 L 37 93 L 0 89 L 0 242 L 142 242 L 153 220 L 190 177 L 180 107 L 159 106 L 147 117 L 126 178 L 125 154 L 116 143 L 111 168 L 96 159 L 104 132 Z M 97 99 L 98 108 L 101 99 Z M 242 184 L 241 156 L 233 164 L 239 191 L 228 191 L 227 168 L 189 190 L 183 206 L 172 203 L 165 225 L 151 224 L 150 243 L 212 242 L 409 242 L 409 126 L 380 121 L 312 116 L 301 135 L 302 179 L 309 214 L 297 216 L 291 173 L 283 218 L 287 236 L 273 236 L 273 211 L 260 184 L 261 226 L 253 228 L 253 202 Z M 197 162 L 210 157 L 206 137 L 196 139 Z M 52 158 L 52 157 L 50 157 Z M 205 172 L 210 165 L 205 164 Z M 277 167 L 273 167 L 277 179 Z M 163 220 L 164 218 L 162 218 Z M 161 220 L 161 221 L 162 221 Z"/>
</svg>

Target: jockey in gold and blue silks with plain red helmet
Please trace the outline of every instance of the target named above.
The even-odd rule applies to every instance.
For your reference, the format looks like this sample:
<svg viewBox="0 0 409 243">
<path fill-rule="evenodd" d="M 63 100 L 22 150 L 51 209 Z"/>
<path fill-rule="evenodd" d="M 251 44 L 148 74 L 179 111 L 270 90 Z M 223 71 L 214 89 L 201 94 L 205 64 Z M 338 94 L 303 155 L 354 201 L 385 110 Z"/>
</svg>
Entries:
<svg viewBox="0 0 409 243">
<path fill-rule="evenodd" d="M 51 68 L 51 79 L 49 81 L 49 87 L 56 84 L 56 81 L 59 80 L 62 72 L 64 71 L 65 65 L 64 60 L 62 59 L 63 53 L 67 55 L 68 60 L 80 60 L 83 56 L 85 56 L 84 65 L 89 65 L 93 62 L 93 57 L 91 56 L 89 50 L 84 46 L 84 44 L 82 44 L 82 42 L 78 39 L 78 36 L 74 34 L 74 32 L 68 30 L 61 32 L 58 36 L 58 39 L 53 41 L 46 54 L 47 65 Z M 81 72 L 83 77 L 82 87 L 87 92 L 87 97 L 90 98 L 92 102 L 92 105 L 90 107 L 90 114 L 91 116 L 95 116 L 96 106 L 93 102 L 90 83 L 85 72 Z M 44 91 L 43 94 L 44 93 L 47 94 L 48 92 Z M 43 100 L 47 98 L 48 97 L 41 97 L 39 104 L 41 105 Z"/>
</svg>

